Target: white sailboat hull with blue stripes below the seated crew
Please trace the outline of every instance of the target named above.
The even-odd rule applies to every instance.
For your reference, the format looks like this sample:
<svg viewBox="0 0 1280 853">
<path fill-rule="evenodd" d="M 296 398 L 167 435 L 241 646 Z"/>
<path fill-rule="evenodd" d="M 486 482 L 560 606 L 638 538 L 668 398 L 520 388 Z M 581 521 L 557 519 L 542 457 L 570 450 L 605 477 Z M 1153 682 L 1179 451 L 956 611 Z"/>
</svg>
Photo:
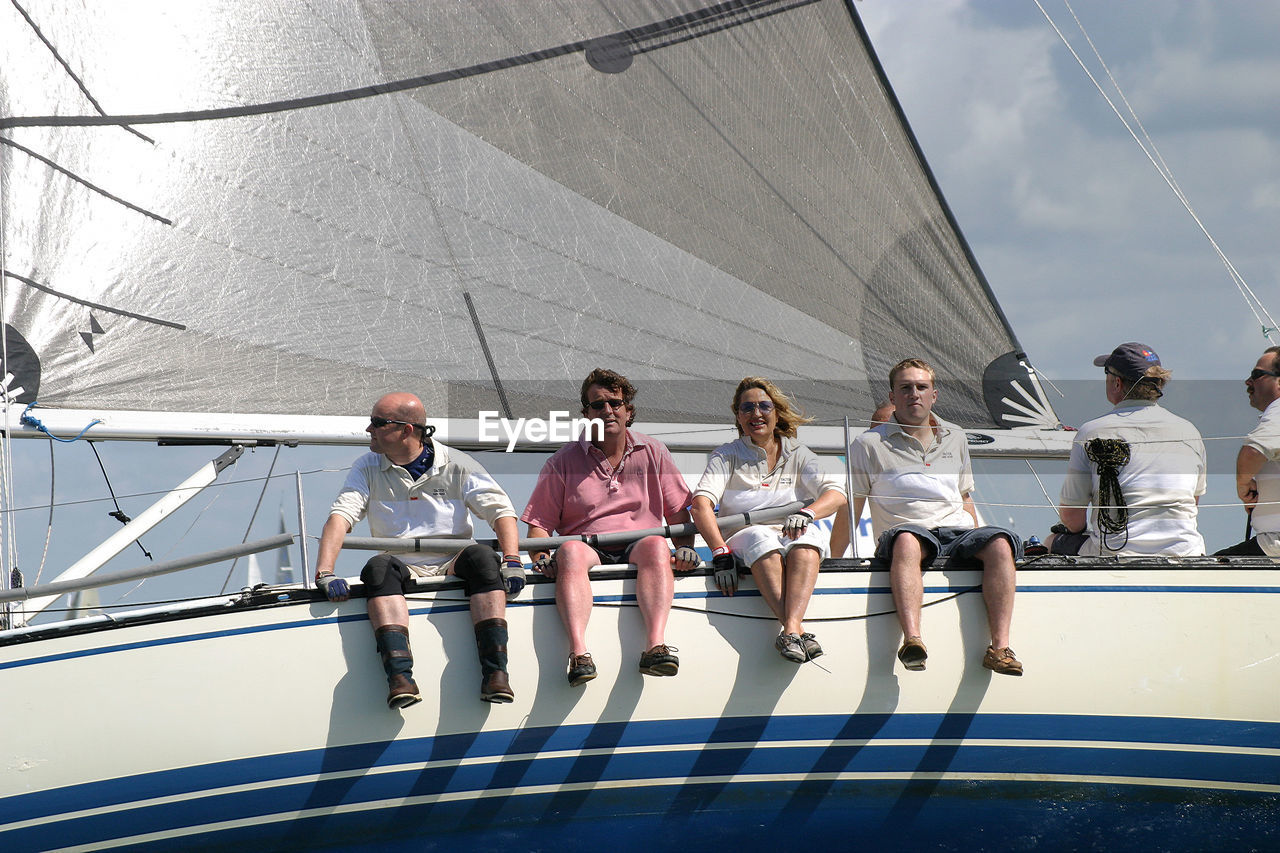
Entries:
<svg viewBox="0 0 1280 853">
<path fill-rule="evenodd" d="M 634 580 L 598 580 L 600 678 L 579 689 L 552 587 L 534 584 L 508 610 L 508 706 L 477 699 L 453 588 L 411 602 L 425 701 L 404 712 L 384 706 L 362 601 L 278 589 L 264 606 L 12 634 L 0 849 L 585 849 L 690 833 L 755 847 L 795 831 L 1275 848 L 1280 569 L 1216 565 L 1023 569 L 1020 679 L 982 669 L 980 576 L 950 570 L 927 575 L 942 601 L 925 608 L 924 672 L 893 657 L 882 571 L 823 571 L 808 628 L 827 653 L 805 666 L 773 651 L 749 583 L 727 599 L 677 580 L 673 679 L 636 671 Z"/>
</svg>

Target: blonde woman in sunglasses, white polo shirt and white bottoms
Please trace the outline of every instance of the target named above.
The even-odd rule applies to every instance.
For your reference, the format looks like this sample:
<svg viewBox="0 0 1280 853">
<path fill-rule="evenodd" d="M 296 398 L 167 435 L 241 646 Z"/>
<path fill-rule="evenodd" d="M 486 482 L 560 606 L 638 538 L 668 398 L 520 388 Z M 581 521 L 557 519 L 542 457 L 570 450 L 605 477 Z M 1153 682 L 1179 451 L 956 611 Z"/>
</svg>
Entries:
<svg viewBox="0 0 1280 853">
<path fill-rule="evenodd" d="M 710 546 L 716 585 L 726 596 L 737 589 L 737 567 L 746 565 L 782 630 L 774 648 L 804 663 L 822 654 L 822 646 L 804 630 L 818 566 L 828 556 L 829 532 L 813 524 L 845 503 L 840 482 L 822 470 L 817 455 L 796 441 L 808 423 L 768 379 L 748 377 L 733 392 L 739 439 L 716 448 L 694 491 L 692 516 Z M 739 515 L 795 501 L 813 501 L 778 524 L 751 524 L 724 538 L 719 515 Z"/>
</svg>

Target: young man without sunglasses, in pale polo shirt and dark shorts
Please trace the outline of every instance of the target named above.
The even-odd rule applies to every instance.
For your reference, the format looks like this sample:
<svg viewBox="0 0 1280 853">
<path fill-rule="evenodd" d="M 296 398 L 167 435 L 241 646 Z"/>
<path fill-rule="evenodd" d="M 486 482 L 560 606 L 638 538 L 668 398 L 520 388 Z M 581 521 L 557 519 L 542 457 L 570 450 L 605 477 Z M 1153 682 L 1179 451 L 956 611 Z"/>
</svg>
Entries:
<svg viewBox="0 0 1280 853">
<path fill-rule="evenodd" d="M 933 414 L 937 375 L 928 361 L 906 359 L 888 373 L 893 419 L 868 429 L 849 446 L 852 517 L 870 501 L 876 560 L 890 564 L 890 587 L 902 628 L 899 661 L 925 666 L 920 638 L 923 570 L 933 560 L 982 566 L 991 646 L 982 665 L 1001 675 L 1021 675 L 1009 647 L 1016 589 L 1014 561 L 1021 540 L 1012 530 L 978 526 L 973 466 L 964 430 Z M 842 544 L 842 543 L 840 543 Z"/>
</svg>

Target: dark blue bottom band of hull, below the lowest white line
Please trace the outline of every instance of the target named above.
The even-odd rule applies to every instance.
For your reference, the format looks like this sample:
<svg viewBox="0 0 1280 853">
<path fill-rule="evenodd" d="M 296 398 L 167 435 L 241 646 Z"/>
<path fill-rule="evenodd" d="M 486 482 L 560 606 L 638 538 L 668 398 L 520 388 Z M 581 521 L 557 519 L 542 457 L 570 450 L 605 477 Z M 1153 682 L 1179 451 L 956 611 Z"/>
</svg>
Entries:
<svg viewBox="0 0 1280 853">
<path fill-rule="evenodd" d="M 376 840 L 375 840 L 376 839 Z M 59 844 L 65 839 L 59 839 Z M 1248 850 L 1275 797 L 1126 785 L 806 781 L 576 790 L 283 821 L 134 849 Z M 23 848 L 9 848 L 23 849 Z"/>
</svg>

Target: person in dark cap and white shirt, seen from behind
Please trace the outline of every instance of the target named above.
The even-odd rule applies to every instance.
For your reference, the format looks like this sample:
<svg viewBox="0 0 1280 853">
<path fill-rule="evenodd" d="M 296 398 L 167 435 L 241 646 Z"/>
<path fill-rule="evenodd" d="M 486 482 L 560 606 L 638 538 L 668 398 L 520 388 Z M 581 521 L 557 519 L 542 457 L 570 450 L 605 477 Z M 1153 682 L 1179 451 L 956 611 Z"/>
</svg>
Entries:
<svg viewBox="0 0 1280 853">
<path fill-rule="evenodd" d="M 1087 557 L 1202 556 L 1196 519 L 1206 484 L 1204 442 L 1189 420 L 1158 403 L 1170 371 L 1137 342 L 1121 343 L 1093 365 L 1103 369 L 1114 409 L 1076 432 L 1059 498 L 1061 524 L 1044 544 L 1050 553 Z"/>
</svg>

